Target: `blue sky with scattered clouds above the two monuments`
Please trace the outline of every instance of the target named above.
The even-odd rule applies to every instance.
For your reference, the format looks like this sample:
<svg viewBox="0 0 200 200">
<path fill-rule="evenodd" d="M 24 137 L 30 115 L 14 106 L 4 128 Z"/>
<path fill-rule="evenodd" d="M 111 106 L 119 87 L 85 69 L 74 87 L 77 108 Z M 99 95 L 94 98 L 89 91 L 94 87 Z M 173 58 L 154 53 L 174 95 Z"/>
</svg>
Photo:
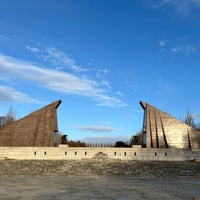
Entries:
<svg viewBox="0 0 200 200">
<path fill-rule="evenodd" d="M 69 139 L 130 138 L 139 101 L 200 117 L 200 0 L 0 0 L 0 116 L 62 100 Z"/>
</svg>

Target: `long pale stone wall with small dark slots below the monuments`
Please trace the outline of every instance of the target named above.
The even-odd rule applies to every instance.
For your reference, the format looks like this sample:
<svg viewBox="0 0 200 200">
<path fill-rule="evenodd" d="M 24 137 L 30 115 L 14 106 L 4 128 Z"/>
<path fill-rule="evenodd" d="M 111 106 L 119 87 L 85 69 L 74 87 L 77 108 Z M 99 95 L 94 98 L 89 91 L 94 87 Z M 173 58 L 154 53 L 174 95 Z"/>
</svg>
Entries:
<svg viewBox="0 0 200 200">
<path fill-rule="evenodd" d="M 0 147 L 0 159 L 80 160 L 119 159 L 149 161 L 200 161 L 200 151 L 148 148 Z"/>
</svg>

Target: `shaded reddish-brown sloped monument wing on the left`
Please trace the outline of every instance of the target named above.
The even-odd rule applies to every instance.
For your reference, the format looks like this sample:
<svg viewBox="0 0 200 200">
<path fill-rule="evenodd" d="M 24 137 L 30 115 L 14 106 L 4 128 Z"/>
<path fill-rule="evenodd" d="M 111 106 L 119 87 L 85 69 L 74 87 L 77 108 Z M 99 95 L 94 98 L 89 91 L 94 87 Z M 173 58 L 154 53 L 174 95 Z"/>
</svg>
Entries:
<svg viewBox="0 0 200 200">
<path fill-rule="evenodd" d="M 0 129 L 0 146 L 53 146 L 60 103 L 53 102 Z"/>
</svg>

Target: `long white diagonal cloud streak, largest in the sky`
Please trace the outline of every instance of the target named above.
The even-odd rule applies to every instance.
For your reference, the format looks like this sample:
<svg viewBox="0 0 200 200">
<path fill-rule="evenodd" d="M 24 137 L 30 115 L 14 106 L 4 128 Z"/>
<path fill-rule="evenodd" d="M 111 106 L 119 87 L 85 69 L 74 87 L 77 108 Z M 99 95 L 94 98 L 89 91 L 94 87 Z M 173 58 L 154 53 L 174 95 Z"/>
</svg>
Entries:
<svg viewBox="0 0 200 200">
<path fill-rule="evenodd" d="M 117 97 L 108 94 L 107 89 L 95 80 L 47 69 L 2 54 L 0 54 L 0 70 L 5 76 L 22 79 L 49 90 L 89 97 L 98 101 L 99 105 L 110 107 L 126 105 Z"/>
</svg>

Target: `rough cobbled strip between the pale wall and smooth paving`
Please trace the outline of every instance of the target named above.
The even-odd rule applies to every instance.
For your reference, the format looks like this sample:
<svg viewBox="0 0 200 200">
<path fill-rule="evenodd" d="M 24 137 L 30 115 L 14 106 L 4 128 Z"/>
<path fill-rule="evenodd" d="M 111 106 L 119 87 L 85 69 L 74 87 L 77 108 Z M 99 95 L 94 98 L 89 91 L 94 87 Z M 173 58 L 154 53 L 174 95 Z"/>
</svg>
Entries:
<svg viewBox="0 0 200 200">
<path fill-rule="evenodd" d="M 131 177 L 171 177 L 177 176 L 200 178 L 199 162 L 166 162 L 166 161 L 127 161 L 127 160 L 0 160 L 0 176 L 15 177 L 22 175 L 26 178 L 47 175 L 59 177 L 65 175 L 88 176 L 120 175 Z M 79 177 L 79 178 L 80 178 Z M 38 178 L 38 177 L 37 177 Z M 17 177 L 17 180 L 19 176 Z M 157 179 L 156 179 L 157 180 Z M 55 181 L 55 180 L 54 180 Z M 185 182 L 184 182 L 185 183 Z M 199 182 L 198 182 L 199 184 Z M 4 183 L 2 184 L 4 185 Z M 8 184 L 10 186 L 10 182 Z M 193 186 L 191 186 L 193 187 Z M 39 198 L 41 199 L 41 198 Z M 65 198 L 68 199 L 68 198 Z M 113 198 L 112 198 L 113 199 Z"/>
</svg>

